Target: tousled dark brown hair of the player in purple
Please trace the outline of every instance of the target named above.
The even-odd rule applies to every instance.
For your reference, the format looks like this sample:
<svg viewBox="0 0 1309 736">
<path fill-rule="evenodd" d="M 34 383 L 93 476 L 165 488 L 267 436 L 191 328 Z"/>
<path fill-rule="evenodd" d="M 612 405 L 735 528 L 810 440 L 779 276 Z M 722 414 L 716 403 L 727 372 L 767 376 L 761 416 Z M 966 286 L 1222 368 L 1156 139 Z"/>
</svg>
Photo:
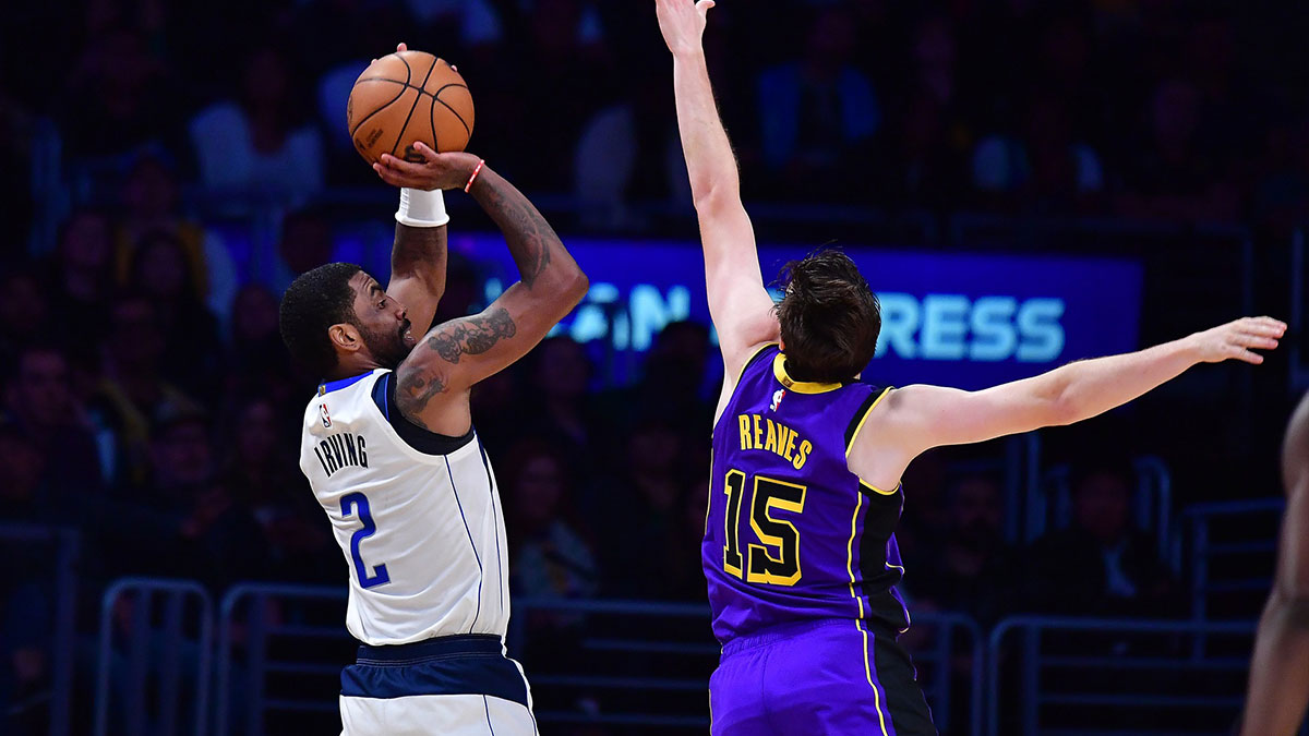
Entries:
<svg viewBox="0 0 1309 736">
<path fill-rule="evenodd" d="M 818 250 L 787 263 L 778 304 L 787 372 L 797 381 L 853 380 L 877 350 L 882 308 L 848 255 Z"/>
</svg>

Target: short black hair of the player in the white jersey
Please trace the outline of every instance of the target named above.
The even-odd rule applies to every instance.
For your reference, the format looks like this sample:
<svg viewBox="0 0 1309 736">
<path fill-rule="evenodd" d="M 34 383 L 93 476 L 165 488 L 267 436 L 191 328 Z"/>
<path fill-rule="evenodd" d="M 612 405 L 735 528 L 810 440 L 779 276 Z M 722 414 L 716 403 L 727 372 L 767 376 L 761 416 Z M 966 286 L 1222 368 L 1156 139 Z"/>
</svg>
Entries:
<svg viewBox="0 0 1309 736">
<path fill-rule="evenodd" d="M 327 329 L 357 323 L 350 280 L 363 271 L 353 263 L 327 263 L 301 274 L 281 296 L 278 322 L 291 358 L 321 377 L 336 368 Z"/>
</svg>

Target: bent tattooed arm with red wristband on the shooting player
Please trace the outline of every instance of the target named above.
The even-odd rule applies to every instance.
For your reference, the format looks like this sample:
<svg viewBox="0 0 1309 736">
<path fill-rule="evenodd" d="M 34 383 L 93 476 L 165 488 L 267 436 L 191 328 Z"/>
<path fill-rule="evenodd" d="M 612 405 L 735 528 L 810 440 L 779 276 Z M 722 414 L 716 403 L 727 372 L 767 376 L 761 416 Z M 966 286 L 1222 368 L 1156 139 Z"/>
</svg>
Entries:
<svg viewBox="0 0 1309 736">
<path fill-rule="evenodd" d="M 541 212 L 478 157 L 424 152 L 424 158 L 391 158 L 382 178 L 420 189 L 471 181 L 470 194 L 504 233 L 521 279 L 480 314 L 432 327 L 395 371 L 397 405 L 408 420 L 462 435 L 471 422 L 469 389 L 535 347 L 581 301 L 588 283 Z"/>
</svg>

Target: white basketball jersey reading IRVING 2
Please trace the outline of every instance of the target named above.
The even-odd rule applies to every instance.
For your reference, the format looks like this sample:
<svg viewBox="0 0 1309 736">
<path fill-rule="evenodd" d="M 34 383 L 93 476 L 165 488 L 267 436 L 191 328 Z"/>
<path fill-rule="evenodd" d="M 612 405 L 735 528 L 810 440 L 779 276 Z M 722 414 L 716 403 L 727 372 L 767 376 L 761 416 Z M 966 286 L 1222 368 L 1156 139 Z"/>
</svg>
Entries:
<svg viewBox="0 0 1309 736">
<path fill-rule="evenodd" d="M 373 402 L 387 373 L 325 384 L 305 411 L 300 469 L 350 566 L 346 626 L 372 646 L 504 636 L 508 547 L 491 462 L 476 436 L 450 454 L 406 444 Z"/>
</svg>

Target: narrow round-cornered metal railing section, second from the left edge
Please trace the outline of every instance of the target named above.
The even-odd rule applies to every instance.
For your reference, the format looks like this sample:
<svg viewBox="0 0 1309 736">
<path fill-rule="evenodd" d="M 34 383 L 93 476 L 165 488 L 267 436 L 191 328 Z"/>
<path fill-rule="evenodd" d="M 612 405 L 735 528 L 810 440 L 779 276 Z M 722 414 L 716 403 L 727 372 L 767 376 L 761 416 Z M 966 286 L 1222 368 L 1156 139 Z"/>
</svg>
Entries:
<svg viewBox="0 0 1309 736">
<path fill-rule="evenodd" d="M 119 635 L 124 608 L 128 623 Z M 188 623 L 195 629 L 188 630 Z M 115 640 L 126 652 L 114 647 Z M 212 652 L 213 605 L 199 583 L 157 578 L 115 581 L 101 598 L 96 736 L 204 736 Z M 195 684 L 194 695 L 182 693 L 187 680 Z M 151 703 L 156 706 L 153 712 Z M 195 719 L 190 731 L 182 726 L 187 710 Z M 122 716 L 122 728 L 111 727 L 114 715 Z"/>
</svg>

